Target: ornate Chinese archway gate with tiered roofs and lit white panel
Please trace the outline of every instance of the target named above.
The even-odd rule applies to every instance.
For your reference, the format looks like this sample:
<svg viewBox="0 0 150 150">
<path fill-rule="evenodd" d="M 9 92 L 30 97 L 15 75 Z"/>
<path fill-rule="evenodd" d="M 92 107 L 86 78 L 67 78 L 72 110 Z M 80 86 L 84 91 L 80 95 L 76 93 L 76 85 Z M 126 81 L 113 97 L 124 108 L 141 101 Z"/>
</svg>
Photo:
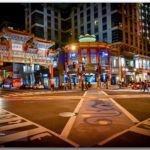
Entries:
<svg viewBox="0 0 150 150">
<path fill-rule="evenodd" d="M 53 79 L 53 56 L 56 55 L 56 52 L 50 47 L 54 44 L 53 41 L 6 28 L 0 33 L 0 70 L 4 68 L 5 63 L 22 64 L 22 66 L 24 64 L 30 68 L 40 65 L 49 68 L 50 79 Z M 12 70 L 12 74 L 14 72 L 16 70 Z M 0 78 L 1 80 L 5 78 L 2 70 Z"/>
</svg>

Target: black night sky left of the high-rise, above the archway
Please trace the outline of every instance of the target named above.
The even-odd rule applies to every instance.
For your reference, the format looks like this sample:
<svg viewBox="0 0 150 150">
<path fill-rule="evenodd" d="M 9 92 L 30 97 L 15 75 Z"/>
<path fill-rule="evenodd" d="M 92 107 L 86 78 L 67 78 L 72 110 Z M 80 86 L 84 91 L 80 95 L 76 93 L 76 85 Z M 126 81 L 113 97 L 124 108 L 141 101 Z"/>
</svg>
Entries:
<svg viewBox="0 0 150 150">
<path fill-rule="evenodd" d="M 12 22 L 24 29 L 25 13 L 23 4 L 0 3 L 0 24 L 4 21 Z"/>
</svg>

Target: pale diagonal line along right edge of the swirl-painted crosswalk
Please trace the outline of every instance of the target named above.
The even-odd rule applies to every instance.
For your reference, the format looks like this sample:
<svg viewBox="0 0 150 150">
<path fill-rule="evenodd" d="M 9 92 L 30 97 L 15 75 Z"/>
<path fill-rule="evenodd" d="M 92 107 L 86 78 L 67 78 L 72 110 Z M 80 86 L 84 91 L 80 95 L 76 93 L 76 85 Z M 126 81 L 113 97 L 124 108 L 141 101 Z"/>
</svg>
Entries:
<svg viewBox="0 0 150 150">
<path fill-rule="evenodd" d="M 106 96 L 108 96 L 107 93 L 102 91 Z M 132 122 L 138 123 L 140 122 L 137 118 L 135 118 L 130 112 L 128 112 L 124 107 L 122 107 L 120 104 L 118 104 L 114 99 L 109 98 Z"/>
</svg>

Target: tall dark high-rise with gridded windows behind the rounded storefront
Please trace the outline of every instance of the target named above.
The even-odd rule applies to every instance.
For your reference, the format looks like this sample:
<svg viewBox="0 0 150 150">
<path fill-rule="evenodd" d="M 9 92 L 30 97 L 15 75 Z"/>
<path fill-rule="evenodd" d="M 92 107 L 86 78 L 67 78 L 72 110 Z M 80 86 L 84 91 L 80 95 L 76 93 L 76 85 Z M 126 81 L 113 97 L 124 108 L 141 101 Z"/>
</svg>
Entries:
<svg viewBox="0 0 150 150">
<path fill-rule="evenodd" d="M 120 52 L 126 50 L 150 55 L 150 4 L 57 5 L 26 4 L 26 31 L 38 37 L 56 40 L 59 46 L 77 41 L 79 35 L 94 34 L 97 41 L 113 43 Z"/>
</svg>

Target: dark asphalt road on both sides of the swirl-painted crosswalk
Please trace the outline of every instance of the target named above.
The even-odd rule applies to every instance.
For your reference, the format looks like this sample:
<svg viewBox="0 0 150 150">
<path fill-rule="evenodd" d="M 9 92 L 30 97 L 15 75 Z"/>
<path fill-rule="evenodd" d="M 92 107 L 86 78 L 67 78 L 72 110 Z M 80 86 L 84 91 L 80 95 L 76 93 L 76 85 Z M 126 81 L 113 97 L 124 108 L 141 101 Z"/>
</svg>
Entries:
<svg viewBox="0 0 150 150">
<path fill-rule="evenodd" d="M 105 91 L 110 97 L 111 95 L 137 95 L 137 98 L 114 98 L 114 100 L 123 106 L 127 111 L 129 111 L 134 117 L 136 117 L 139 121 L 146 120 L 150 118 L 150 103 L 149 98 L 140 98 L 141 94 L 145 94 L 143 92 L 133 92 L 133 91 Z M 15 147 L 15 146 L 23 146 L 26 147 L 76 147 L 78 143 L 74 143 L 73 140 L 68 141 L 70 139 L 63 139 L 60 134 L 63 131 L 65 125 L 68 123 L 69 117 L 62 117 L 60 113 L 63 112 L 74 112 L 76 106 L 80 102 L 80 98 L 83 96 L 84 92 L 81 90 L 76 91 L 59 91 L 50 92 L 43 90 L 5 90 L 0 91 L 0 139 L 3 139 L 7 132 L 6 129 L 15 127 L 15 130 L 10 130 L 9 132 L 18 132 L 16 136 L 21 136 L 21 131 L 23 130 L 33 130 L 31 131 L 31 136 L 23 137 L 12 142 L 8 141 L 4 145 L 0 140 L 0 146 L 6 147 Z M 87 95 L 92 96 L 92 95 Z M 68 98 L 69 97 L 69 98 Z M 85 101 L 86 102 L 86 101 Z M 92 101 L 91 101 L 92 104 Z M 104 106 L 103 106 L 104 107 Z M 3 114 L 2 110 L 8 111 L 6 114 Z M 82 110 L 82 105 L 81 105 Z M 9 116 L 11 113 L 14 115 L 18 115 L 21 117 L 21 121 L 15 120 L 14 115 L 12 118 Z M 17 116 L 16 116 L 17 117 Z M 25 119 L 27 121 L 25 122 Z M 8 121 L 7 121 L 8 120 Z M 15 122 L 13 122 L 15 120 Z M 25 122 L 25 124 L 24 124 Z M 31 123 L 28 123 L 31 122 Z M 21 124 L 20 124 L 21 123 Z M 14 124 L 14 126 L 12 125 Z M 29 124 L 29 126 L 19 127 L 16 126 L 24 126 Z M 40 126 L 40 127 L 39 127 Z M 149 125 L 148 125 L 149 126 Z M 35 128 L 35 129 L 34 129 Z M 40 130 L 38 131 L 38 128 Z M 41 129 L 45 128 L 45 129 Z M 91 127 L 90 127 L 91 128 Z M 35 131 L 34 131 L 35 130 Z M 85 130 L 85 129 L 83 129 Z M 40 132 L 37 136 L 35 132 Z M 42 132 L 42 133 L 41 133 Z M 54 134 L 53 134 L 54 132 Z M 4 135 L 3 135 L 4 134 Z M 27 134 L 26 132 L 24 133 Z M 29 134 L 29 133 L 28 133 Z M 27 134 L 27 135 L 28 135 Z M 29 135 L 30 135 L 29 134 Z M 35 134 L 33 136 L 33 134 Z M 44 135 L 43 135 L 44 134 Z M 56 134 L 56 135 L 55 135 Z M 83 134 L 83 133 L 82 133 Z M 52 135 L 52 136 L 51 136 Z M 15 136 L 15 138 L 16 138 Z M 32 137 L 33 136 L 33 137 Z M 40 137 L 39 137 L 40 136 Z M 36 138 L 35 138 L 36 137 Z M 94 137 L 94 132 L 93 132 Z M 137 140 L 136 140 L 137 137 Z M 12 137 L 4 138 L 11 139 Z M 13 137 L 14 138 L 14 137 Z M 32 140 L 27 140 L 32 139 Z M 132 139 L 131 141 L 129 139 Z M 22 142 L 21 142 L 22 141 Z M 25 142 L 24 142 L 25 141 Z M 120 141 L 120 143 L 119 143 Z M 138 142 L 141 141 L 141 142 Z M 145 142 L 144 142 L 145 141 Z M 137 146 L 150 146 L 150 138 L 147 135 L 139 135 L 138 133 L 133 133 L 132 131 L 127 131 L 124 134 L 121 134 L 119 137 L 105 143 L 104 145 L 93 145 L 93 147 L 116 147 L 116 146 L 133 146 L 135 147 L 135 143 L 138 142 Z M 49 143 L 49 144 L 48 144 Z M 119 143 L 119 144 L 117 144 Z M 134 143 L 134 144 L 133 144 Z M 86 144 L 86 141 L 85 141 Z M 88 143 L 87 143 L 88 145 Z"/>
</svg>

